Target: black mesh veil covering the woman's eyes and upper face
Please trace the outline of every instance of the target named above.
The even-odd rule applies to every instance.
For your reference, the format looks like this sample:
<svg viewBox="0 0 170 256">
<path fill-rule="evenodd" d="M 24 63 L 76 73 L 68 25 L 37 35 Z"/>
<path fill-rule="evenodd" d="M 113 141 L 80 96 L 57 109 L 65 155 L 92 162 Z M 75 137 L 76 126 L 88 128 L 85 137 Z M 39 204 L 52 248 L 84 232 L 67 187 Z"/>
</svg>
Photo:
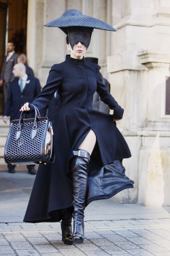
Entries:
<svg viewBox="0 0 170 256">
<path fill-rule="evenodd" d="M 91 35 L 92 35 L 92 28 L 91 27 L 69 27 L 68 28 L 68 38 L 71 48 L 81 42 L 86 46 L 86 50 L 90 44 Z"/>
</svg>

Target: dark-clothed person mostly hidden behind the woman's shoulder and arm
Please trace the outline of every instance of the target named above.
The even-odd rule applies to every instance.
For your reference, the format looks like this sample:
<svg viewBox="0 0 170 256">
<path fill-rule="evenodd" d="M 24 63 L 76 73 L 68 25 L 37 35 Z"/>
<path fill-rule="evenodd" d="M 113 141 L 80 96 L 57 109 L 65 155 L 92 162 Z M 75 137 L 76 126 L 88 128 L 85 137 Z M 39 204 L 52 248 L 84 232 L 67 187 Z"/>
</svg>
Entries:
<svg viewBox="0 0 170 256">
<path fill-rule="evenodd" d="M 86 59 L 86 61 L 88 61 L 90 63 L 98 64 L 98 59 L 97 58 L 86 57 L 85 59 Z M 106 89 L 110 92 L 109 82 L 107 81 L 107 79 L 104 79 L 103 76 L 102 76 L 102 79 L 103 79 L 103 84 L 105 85 Z M 95 91 L 95 94 L 93 96 L 92 109 L 95 109 L 97 111 L 101 111 L 101 112 L 109 114 L 109 106 L 101 100 L 99 94 L 97 94 L 97 91 Z"/>
</svg>

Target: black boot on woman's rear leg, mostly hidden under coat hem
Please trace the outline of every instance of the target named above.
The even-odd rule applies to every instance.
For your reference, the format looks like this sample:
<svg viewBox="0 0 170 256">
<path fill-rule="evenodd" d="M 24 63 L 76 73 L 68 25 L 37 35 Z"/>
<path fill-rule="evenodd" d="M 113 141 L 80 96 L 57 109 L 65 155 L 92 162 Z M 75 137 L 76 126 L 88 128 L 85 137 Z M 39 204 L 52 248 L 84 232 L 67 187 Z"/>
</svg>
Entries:
<svg viewBox="0 0 170 256">
<path fill-rule="evenodd" d="M 61 209 L 61 231 L 62 231 L 62 241 L 64 244 L 73 244 L 72 240 L 72 208 Z"/>
</svg>

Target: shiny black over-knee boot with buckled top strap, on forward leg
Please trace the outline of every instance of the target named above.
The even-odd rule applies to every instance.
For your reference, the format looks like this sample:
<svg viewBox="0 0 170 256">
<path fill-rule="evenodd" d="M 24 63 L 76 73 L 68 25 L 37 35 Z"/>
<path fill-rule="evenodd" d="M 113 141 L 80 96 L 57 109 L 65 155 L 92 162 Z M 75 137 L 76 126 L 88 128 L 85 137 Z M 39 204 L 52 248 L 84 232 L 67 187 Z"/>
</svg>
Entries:
<svg viewBox="0 0 170 256">
<path fill-rule="evenodd" d="M 73 151 L 71 161 L 73 180 L 73 244 L 84 241 L 84 209 L 87 194 L 90 154 L 85 150 Z"/>
</svg>

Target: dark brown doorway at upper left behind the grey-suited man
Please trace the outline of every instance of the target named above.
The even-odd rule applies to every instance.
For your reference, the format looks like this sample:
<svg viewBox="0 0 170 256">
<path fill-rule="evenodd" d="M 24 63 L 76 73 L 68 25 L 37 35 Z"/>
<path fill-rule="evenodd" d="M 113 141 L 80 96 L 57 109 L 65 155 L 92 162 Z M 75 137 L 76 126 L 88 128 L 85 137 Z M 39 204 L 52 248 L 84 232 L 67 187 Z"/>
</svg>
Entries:
<svg viewBox="0 0 170 256">
<path fill-rule="evenodd" d="M 26 54 L 28 0 L 0 0 L 0 73 L 7 40 L 16 44 L 16 53 Z M 0 115 L 3 114 L 3 87 L 0 87 Z"/>
</svg>

